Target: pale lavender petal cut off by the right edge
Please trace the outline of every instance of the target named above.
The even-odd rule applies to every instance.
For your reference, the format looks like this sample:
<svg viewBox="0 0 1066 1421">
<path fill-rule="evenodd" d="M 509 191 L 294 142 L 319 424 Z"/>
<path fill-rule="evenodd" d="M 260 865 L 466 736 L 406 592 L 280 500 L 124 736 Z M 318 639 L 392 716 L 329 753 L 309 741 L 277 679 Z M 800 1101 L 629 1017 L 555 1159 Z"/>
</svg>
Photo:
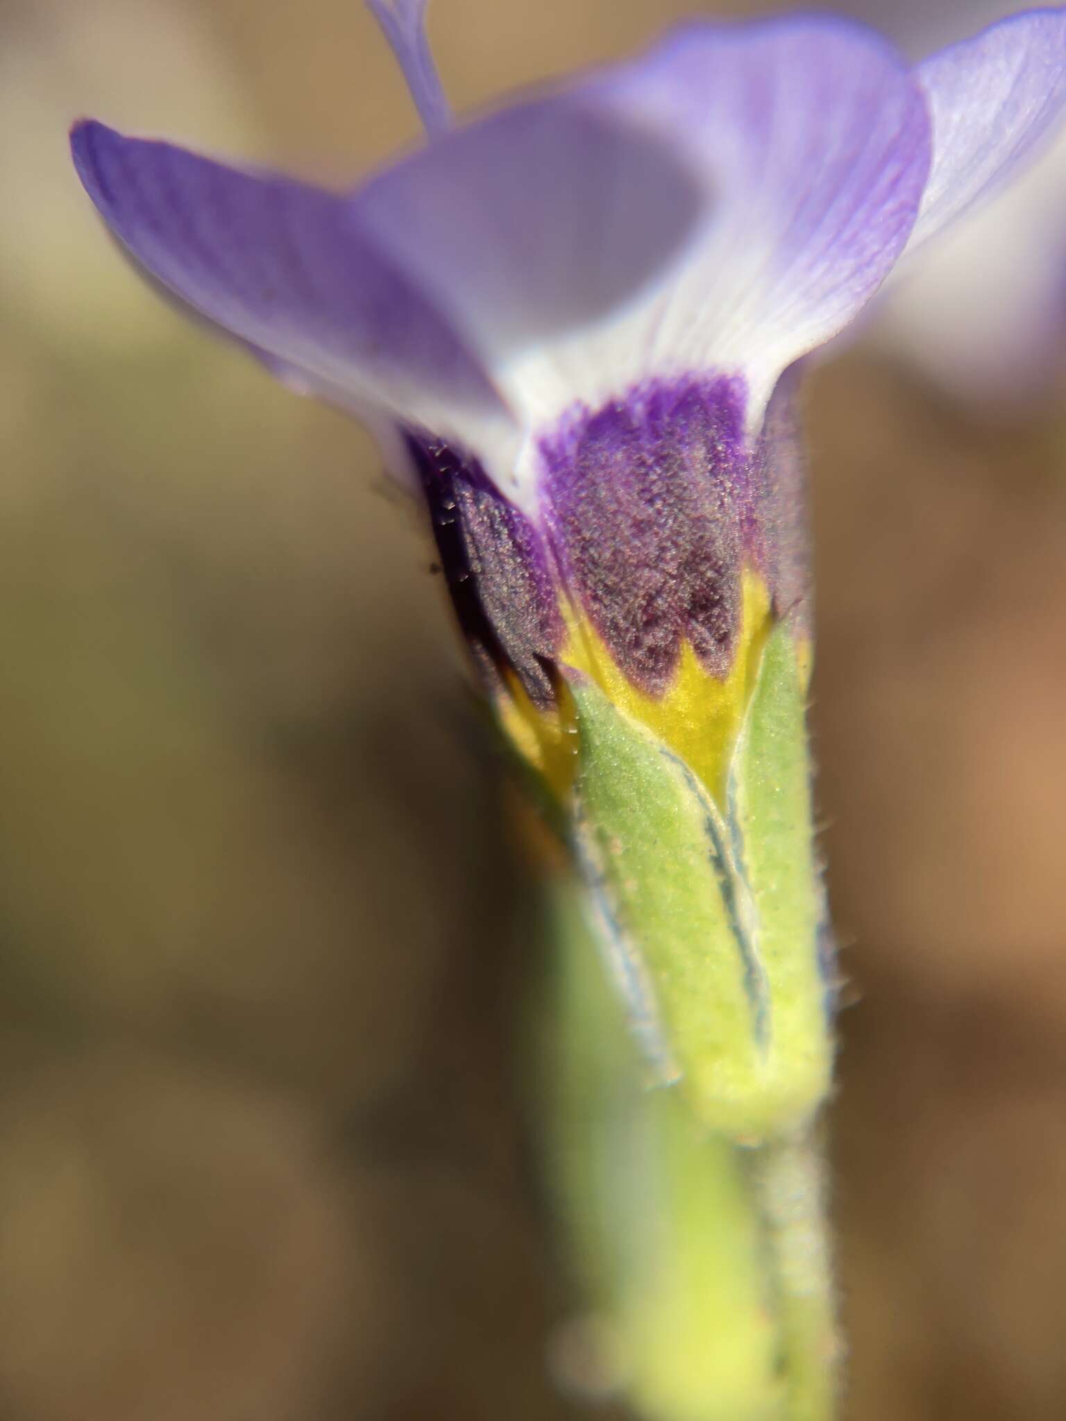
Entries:
<svg viewBox="0 0 1066 1421">
<path fill-rule="evenodd" d="M 934 159 L 910 249 L 998 186 L 1066 111 L 1066 10 L 1030 10 L 915 70 Z"/>
</svg>

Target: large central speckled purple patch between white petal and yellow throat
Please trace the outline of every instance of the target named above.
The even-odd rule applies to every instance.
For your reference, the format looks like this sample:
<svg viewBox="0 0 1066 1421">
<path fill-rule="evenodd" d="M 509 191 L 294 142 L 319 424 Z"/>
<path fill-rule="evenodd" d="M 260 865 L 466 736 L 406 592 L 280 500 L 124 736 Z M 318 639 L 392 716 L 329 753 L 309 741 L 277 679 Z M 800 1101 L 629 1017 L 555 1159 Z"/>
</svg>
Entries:
<svg viewBox="0 0 1066 1421">
<path fill-rule="evenodd" d="M 739 377 L 652 381 L 542 443 L 546 522 L 571 595 L 651 695 L 688 638 L 732 665 L 746 561 L 768 576 L 770 468 L 745 433 Z"/>
</svg>

